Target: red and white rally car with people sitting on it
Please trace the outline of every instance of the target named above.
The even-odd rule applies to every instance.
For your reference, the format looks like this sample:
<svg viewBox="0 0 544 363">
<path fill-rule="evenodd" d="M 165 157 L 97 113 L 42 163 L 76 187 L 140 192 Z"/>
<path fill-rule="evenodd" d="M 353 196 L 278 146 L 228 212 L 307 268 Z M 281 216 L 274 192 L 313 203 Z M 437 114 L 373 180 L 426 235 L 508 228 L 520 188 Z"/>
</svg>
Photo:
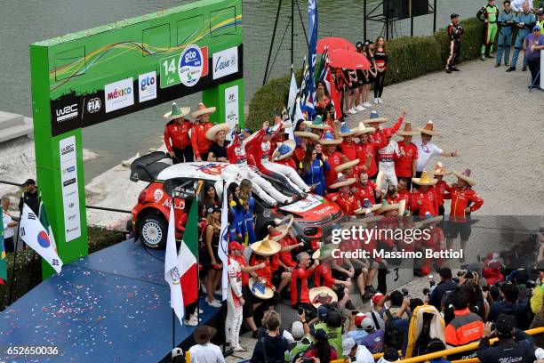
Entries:
<svg viewBox="0 0 544 363">
<path fill-rule="evenodd" d="M 202 193 L 196 195 L 196 190 L 200 181 L 211 184 L 222 182 L 220 173 L 228 165 L 220 162 L 170 165 L 161 161 L 167 157 L 164 152 L 155 151 L 137 158 L 131 165 L 132 181 L 149 182 L 140 192 L 138 204 L 132 208 L 132 231 L 135 238 L 139 238 L 145 246 L 153 249 L 162 249 L 166 246 L 172 200 L 176 238 L 181 238 L 186 228 L 188 214 L 186 202 L 195 198 L 197 202 L 199 201 Z M 275 187 L 281 188 L 279 185 Z M 284 194 L 288 195 L 285 192 Z M 255 193 L 253 198 L 255 198 L 254 213 L 257 215 L 255 233 L 258 238 L 267 235 L 268 225 L 274 223 L 274 219 L 288 214 L 294 216 L 292 228 L 296 235 L 308 244 L 327 236 L 332 223 L 345 220 L 339 206 L 311 193 L 307 198 L 278 208 L 268 207 Z"/>
</svg>

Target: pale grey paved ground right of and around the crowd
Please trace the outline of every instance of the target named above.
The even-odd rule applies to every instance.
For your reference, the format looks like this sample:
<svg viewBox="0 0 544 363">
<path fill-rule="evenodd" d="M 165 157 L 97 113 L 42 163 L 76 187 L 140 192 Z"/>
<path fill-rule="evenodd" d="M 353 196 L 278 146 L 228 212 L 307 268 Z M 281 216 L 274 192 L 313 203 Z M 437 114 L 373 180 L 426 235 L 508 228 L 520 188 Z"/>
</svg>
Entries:
<svg viewBox="0 0 544 363">
<path fill-rule="evenodd" d="M 544 127 L 542 105 L 544 93 L 528 92 L 530 73 L 506 73 L 504 67 L 493 68 L 492 60 L 476 60 L 460 64 L 460 72 L 434 73 L 400 85 L 386 87 L 383 105 L 377 106 L 380 116 L 393 120 L 402 109 L 406 109 L 412 126 L 422 127 L 429 119 L 435 123 L 436 144 L 442 149 L 459 150 L 459 158 L 435 157 L 429 165 L 442 161 L 447 168 L 472 169 L 476 178 L 476 190 L 484 198 L 484 206 L 476 213 L 484 215 L 542 215 L 544 202 L 544 148 L 540 146 Z M 370 110 L 352 118 L 355 125 L 359 119 L 368 118 Z M 454 181 L 452 177 L 447 181 Z M 449 208 L 446 206 L 446 211 Z M 491 221 L 490 221 L 491 220 Z M 528 224 L 538 223 L 539 218 L 511 221 L 510 228 L 523 229 Z M 468 260 L 476 254 L 485 254 L 490 249 L 498 250 L 523 236 L 510 230 L 507 234 L 493 230 L 497 219 L 484 219 L 480 229 L 473 230 L 472 242 L 468 246 Z M 522 226 L 522 227 L 520 227 Z M 523 233 L 521 233 L 523 235 Z M 477 243 L 484 239 L 501 239 L 500 244 L 490 247 Z M 457 242 L 458 244 L 459 242 Z M 423 297 L 428 278 L 415 278 L 405 285 L 412 297 Z M 361 311 L 368 306 L 360 306 Z M 282 313 L 292 314 L 290 308 L 278 308 Z M 252 350 L 255 341 L 243 335 L 241 343 Z M 249 358 L 251 353 L 236 353 L 227 362 Z"/>
</svg>

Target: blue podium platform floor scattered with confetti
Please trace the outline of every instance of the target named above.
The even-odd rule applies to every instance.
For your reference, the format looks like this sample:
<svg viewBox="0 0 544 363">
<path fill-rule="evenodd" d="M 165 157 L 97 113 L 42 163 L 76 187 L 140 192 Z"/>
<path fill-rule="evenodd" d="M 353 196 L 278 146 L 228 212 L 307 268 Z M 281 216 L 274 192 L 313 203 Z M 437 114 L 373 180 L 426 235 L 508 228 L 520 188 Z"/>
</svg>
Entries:
<svg viewBox="0 0 544 363">
<path fill-rule="evenodd" d="M 127 240 L 65 265 L 0 313 L 0 362 L 164 359 L 172 350 L 172 309 L 163 261 L 164 251 Z M 204 300 L 200 308 L 201 324 L 222 319 Z M 175 329 L 176 344 L 192 343 L 194 327 L 176 321 Z M 14 357 L 10 346 L 59 353 Z"/>
</svg>

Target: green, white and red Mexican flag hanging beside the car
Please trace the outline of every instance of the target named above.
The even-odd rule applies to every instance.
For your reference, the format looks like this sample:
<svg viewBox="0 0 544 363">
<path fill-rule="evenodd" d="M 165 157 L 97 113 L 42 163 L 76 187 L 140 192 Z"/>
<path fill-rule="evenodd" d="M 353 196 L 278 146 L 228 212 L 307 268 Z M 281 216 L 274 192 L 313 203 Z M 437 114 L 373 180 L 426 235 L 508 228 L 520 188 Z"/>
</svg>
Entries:
<svg viewBox="0 0 544 363">
<path fill-rule="evenodd" d="M 188 214 L 186 226 L 198 224 L 198 206 L 194 199 Z M 178 254 L 178 266 L 180 266 L 181 292 L 183 293 L 183 304 L 195 303 L 198 299 L 198 230 L 186 228 L 181 241 Z"/>
</svg>

